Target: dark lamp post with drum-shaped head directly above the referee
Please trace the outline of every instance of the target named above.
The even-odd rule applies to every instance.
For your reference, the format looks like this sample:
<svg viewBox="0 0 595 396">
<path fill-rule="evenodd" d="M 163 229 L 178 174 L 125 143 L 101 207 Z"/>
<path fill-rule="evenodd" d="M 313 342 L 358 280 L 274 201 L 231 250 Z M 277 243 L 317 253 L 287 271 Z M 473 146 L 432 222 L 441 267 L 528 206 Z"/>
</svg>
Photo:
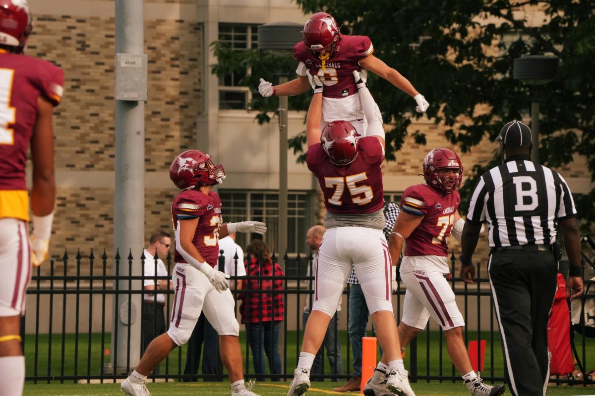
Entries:
<svg viewBox="0 0 595 396">
<path fill-rule="evenodd" d="M 546 55 L 516 58 L 513 65 L 513 78 L 533 85 L 535 90 L 531 97 L 531 138 L 533 138 L 531 161 L 536 163 L 539 163 L 539 102 L 545 99 L 544 96 L 538 96 L 538 86 L 550 83 L 556 78 L 558 65 L 558 58 Z"/>
</svg>

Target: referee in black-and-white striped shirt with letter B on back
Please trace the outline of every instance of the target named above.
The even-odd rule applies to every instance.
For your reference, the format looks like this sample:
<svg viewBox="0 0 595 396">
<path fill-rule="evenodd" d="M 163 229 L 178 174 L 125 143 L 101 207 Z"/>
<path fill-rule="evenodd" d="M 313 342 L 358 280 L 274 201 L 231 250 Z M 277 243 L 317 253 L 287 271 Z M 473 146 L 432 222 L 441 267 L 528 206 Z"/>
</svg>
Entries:
<svg viewBox="0 0 595 396">
<path fill-rule="evenodd" d="M 517 396 L 543 396 L 549 380 L 547 319 L 560 259 L 556 223 L 570 261 L 566 286 L 571 299 L 583 293 L 577 210 L 562 176 L 531 162 L 527 125 L 509 122 L 496 140 L 504 163 L 481 176 L 471 197 L 461 278 L 472 283 L 475 277 L 471 255 L 487 220 L 488 274 L 509 389 Z"/>
</svg>

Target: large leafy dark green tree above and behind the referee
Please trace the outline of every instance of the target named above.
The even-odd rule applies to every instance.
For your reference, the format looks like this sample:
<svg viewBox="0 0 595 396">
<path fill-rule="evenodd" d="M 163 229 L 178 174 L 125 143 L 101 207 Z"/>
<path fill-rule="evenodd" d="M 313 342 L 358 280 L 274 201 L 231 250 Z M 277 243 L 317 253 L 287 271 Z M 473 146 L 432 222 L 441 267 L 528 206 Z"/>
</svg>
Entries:
<svg viewBox="0 0 595 396">
<path fill-rule="evenodd" d="M 541 163 L 560 167 L 581 154 L 595 180 L 594 0 L 296 1 L 306 14 L 330 12 L 342 24 L 344 34 L 369 36 L 374 54 L 424 94 L 431 104 L 428 118 L 446 125 L 446 138 L 463 153 L 473 150 L 484 137 L 496 137 L 503 123 L 527 116 L 531 100 L 539 96 L 543 99 Z M 524 12 L 524 7 L 537 12 Z M 226 51 L 217 44 L 215 49 Z M 559 77 L 538 91 L 512 77 L 514 59 L 532 54 L 560 59 Z M 224 74 L 233 67 L 225 58 L 219 59 L 215 72 Z M 259 77 L 274 80 L 274 73 L 262 67 L 258 56 L 251 55 L 249 60 L 243 61 L 252 66 L 246 85 L 255 89 Z M 287 67 L 292 70 L 295 63 Z M 391 128 L 386 135 L 387 159 L 398 155 L 408 130 L 424 144 L 425 131 L 409 128 L 419 116 L 413 100 L 377 77 L 369 78 L 369 85 Z M 296 109 L 305 109 L 308 101 L 305 94 L 290 102 Z M 261 112 L 259 121 L 270 119 L 275 102 L 255 94 L 252 109 Z M 299 149 L 302 141 L 295 138 L 293 147 Z M 496 163 L 494 157 L 490 163 L 473 164 L 474 175 Z M 474 184 L 475 177 L 466 181 L 461 191 L 464 198 Z M 590 228 L 595 224 L 595 190 L 576 198 L 583 226 Z"/>
</svg>

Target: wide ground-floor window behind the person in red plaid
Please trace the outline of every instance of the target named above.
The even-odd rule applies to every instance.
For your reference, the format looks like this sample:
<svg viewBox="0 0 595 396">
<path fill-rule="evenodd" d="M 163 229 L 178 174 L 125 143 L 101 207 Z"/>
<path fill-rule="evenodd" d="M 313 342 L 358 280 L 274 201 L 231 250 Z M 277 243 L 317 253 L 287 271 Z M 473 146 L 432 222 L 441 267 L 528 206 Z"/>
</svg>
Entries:
<svg viewBox="0 0 595 396">
<path fill-rule="evenodd" d="M 262 236 L 271 251 L 276 251 L 278 246 L 278 208 L 279 194 L 276 191 L 236 191 L 219 189 L 219 196 L 223 204 L 223 221 L 225 223 L 236 221 L 264 221 L 267 223 L 267 233 Z M 306 232 L 314 224 L 315 195 L 312 192 L 290 192 L 287 197 L 287 252 L 295 256 L 308 254 L 306 245 Z M 250 238 L 260 238 L 258 234 L 237 233 L 236 243 L 245 249 L 250 243 Z"/>
</svg>

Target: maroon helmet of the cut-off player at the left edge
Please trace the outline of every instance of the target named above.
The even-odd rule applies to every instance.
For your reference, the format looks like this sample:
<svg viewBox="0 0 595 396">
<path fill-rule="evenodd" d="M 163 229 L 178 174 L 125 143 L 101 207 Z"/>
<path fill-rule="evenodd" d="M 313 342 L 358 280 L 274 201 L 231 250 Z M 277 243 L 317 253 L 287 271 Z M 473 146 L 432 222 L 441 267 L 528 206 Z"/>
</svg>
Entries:
<svg viewBox="0 0 595 396">
<path fill-rule="evenodd" d="M 0 0 L 0 45 L 15 47 L 14 53 L 21 53 L 33 20 L 27 0 Z"/>
</svg>

